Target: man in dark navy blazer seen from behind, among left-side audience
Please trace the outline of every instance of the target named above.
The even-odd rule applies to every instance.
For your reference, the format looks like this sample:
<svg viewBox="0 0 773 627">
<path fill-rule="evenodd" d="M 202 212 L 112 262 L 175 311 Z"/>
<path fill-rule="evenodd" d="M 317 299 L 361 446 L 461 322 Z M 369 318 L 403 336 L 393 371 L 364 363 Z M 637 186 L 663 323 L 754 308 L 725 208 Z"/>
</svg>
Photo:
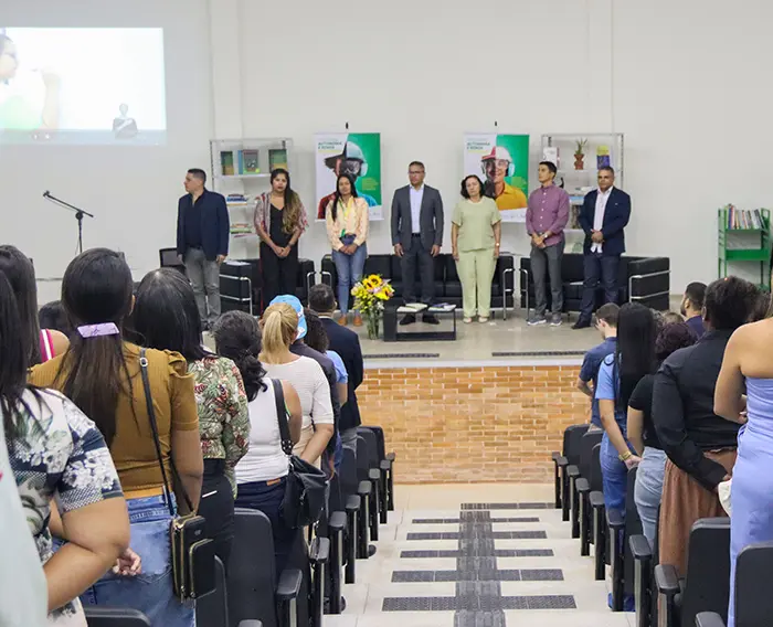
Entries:
<svg viewBox="0 0 773 627">
<path fill-rule="evenodd" d="M 357 389 L 362 383 L 363 363 L 360 338 L 351 329 L 342 327 L 332 319 L 336 310 L 336 296 L 327 284 L 315 285 L 309 290 L 309 309 L 315 311 L 328 333 L 330 350 L 336 351 L 347 369 L 349 381 L 347 382 L 347 400 L 341 405 L 341 418 L 338 423 L 338 432 L 341 434 L 341 443 L 347 448 L 357 450 L 357 427 L 360 426 L 360 408 L 357 405 Z"/>
</svg>

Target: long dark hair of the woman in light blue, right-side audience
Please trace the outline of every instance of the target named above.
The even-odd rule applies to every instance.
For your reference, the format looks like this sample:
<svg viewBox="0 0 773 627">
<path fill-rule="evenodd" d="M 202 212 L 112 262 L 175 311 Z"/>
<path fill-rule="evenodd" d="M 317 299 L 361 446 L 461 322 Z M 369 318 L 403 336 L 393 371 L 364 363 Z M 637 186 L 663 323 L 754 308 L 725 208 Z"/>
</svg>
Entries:
<svg viewBox="0 0 773 627">
<path fill-rule="evenodd" d="M 617 315 L 615 368 L 620 373 L 617 410 L 625 411 L 636 384 L 645 374 L 655 372 L 657 322 L 649 307 L 626 302 Z"/>
</svg>

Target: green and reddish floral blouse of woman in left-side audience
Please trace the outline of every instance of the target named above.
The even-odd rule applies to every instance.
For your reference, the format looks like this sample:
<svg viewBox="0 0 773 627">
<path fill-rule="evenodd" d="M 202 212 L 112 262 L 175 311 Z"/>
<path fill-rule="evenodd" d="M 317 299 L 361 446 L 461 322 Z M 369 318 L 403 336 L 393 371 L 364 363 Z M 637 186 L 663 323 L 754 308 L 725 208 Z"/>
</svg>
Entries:
<svg viewBox="0 0 773 627">
<path fill-rule="evenodd" d="M 250 410 L 236 364 L 207 355 L 188 364 L 195 380 L 199 433 L 204 459 L 225 459 L 225 476 L 236 495 L 234 468 L 250 447 Z"/>
</svg>

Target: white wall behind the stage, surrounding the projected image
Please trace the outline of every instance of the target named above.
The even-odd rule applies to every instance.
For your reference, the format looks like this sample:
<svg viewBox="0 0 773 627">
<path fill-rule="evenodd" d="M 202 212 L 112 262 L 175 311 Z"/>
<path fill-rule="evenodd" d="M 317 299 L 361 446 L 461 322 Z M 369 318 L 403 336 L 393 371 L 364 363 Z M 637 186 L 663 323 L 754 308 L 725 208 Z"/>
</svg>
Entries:
<svg viewBox="0 0 773 627">
<path fill-rule="evenodd" d="M 528 132 L 534 162 L 542 132 L 624 132 L 628 251 L 670 256 L 673 291 L 716 276 L 718 206 L 771 204 L 764 0 L 6 4 L 12 25 L 165 29 L 167 147 L 0 150 L 1 240 L 33 256 L 43 277 L 61 276 L 75 248 L 74 220 L 43 190 L 97 213 L 86 245 L 125 251 L 141 274 L 173 243 L 183 172 L 209 167 L 210 138 L 292 137 L 294 184 L 311 208 L 313 136 L 346 121 L 381 131 L 386 203 L 421 159 L 448 213 L 467 130 L 497 120 L 501 132 Z M 522 225 L 506 225 L 504 240 L 527 251 Z M 388 222 L 369 244 L 390 249 Z M 326 252 L 313 225 L 301 254 Z"/>
</svg>

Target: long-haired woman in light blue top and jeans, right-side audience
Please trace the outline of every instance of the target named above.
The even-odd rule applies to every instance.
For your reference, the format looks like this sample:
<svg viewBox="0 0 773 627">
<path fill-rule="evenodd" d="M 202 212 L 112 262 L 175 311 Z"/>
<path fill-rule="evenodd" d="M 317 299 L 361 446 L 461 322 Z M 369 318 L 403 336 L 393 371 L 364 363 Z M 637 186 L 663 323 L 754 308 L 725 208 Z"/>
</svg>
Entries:
<svg viewBox="0 0 773 627">
<path fill-rule="evenodd" d="M 627 474 L 640 458 L 627 439 L 626 410 L 631 395 L 645 374 L 655 372 L 657 326 L 653 310 L 627 302 L 617 317 L 617 351 L 599 369 L 596 398 L 604 437 L 601 443 L 601 474 L 607 510 L 625 516 Z"/>
</svg>

